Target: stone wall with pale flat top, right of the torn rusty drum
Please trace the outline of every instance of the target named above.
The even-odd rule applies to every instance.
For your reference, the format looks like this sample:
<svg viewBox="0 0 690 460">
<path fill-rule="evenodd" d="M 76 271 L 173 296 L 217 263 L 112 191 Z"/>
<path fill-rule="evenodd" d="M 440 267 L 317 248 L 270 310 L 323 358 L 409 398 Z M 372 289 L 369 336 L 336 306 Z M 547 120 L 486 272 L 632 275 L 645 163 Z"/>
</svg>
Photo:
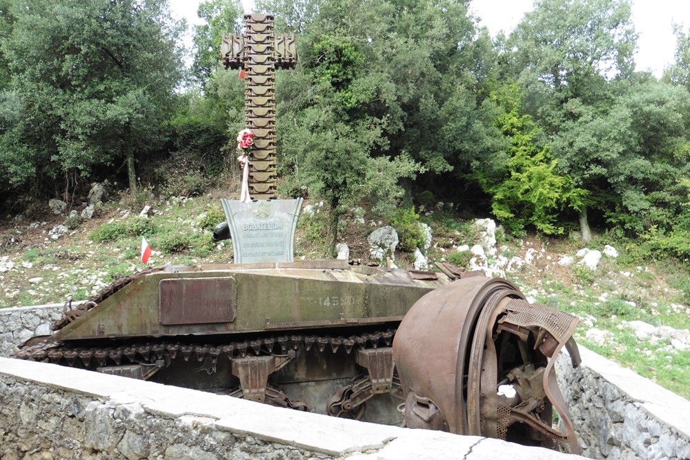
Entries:
<svg viewBox="0 0 690 460">
<path fill-rule="evenodd" d="M 580 346 L 582 366 L 558 360 L 582 455 L 592 459 L 690 459 L 690 401 Z"/>
</svg>

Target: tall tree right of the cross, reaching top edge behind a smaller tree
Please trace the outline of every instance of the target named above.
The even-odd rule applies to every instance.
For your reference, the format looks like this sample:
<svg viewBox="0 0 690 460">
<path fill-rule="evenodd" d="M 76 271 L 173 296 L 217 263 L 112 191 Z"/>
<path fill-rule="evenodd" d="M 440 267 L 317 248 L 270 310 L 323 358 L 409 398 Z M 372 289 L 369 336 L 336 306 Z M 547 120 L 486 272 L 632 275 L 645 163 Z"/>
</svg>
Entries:
<svg viewBox="0 0 690 460">
<path fill-rule="evenodd" d="M 294 157 L 288 154 L 293 150 L 286 146 L 282 132 L 295 130 L 293 120 L 299 123 L 302 110 L 319 106 L 321 113 L 337 114 L 331 122 L 343 123 L 353 133 L 358 126 L 371 131 L 367 137 L 371 141 L 364 143 L 368 157 L 386 165 L 418 163 L 417 170 L 424 175 L 417 187 L 447 183 L 451 199 L 462 196 L 462 187 L 452 181 L 466 181 L 471 159 L 501 143 L 491 107 L 481 108 L 488 94 L 487 77 L 492 75 L 491 41 L 485 31 L 475 39 L 477 30 L 466 4 L 400 0 L 313 4 L 318 14 L 298 37 L 299 67 L 277 79 L 282 174 L 304 170 L 299 151 Z M 334 128 L 331 131 L 344 132 Z M 407 200 L 409 179 L 391 178 L 406 186 Z M 388 205 L 392 206 L 395 203 Z"/>
</svg>

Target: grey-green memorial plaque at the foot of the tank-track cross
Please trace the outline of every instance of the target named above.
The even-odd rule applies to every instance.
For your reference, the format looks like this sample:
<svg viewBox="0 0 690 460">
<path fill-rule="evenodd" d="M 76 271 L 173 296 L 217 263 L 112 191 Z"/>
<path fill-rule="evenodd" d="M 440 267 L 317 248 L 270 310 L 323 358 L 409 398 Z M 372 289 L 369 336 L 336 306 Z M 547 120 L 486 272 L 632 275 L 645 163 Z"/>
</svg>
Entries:
<svg viewBox="0 0 690 460">
<path fill-rule="evenodd" d="M 297 217 L 304 199 L 221 199 L 233 240 L 235 263 L 292 262 Z"/>
</svg>

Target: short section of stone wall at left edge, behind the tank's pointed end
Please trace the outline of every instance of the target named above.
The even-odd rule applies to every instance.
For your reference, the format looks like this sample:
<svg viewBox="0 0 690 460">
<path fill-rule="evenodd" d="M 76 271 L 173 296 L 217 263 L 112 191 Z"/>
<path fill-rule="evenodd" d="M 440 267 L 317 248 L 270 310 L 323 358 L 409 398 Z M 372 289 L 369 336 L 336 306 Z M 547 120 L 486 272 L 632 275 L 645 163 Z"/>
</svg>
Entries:
<svg viewBox="0 0 690 460">
<path fill-rule="evenodd" d="M 0 357 L 37 335 L 50 334 L 52 323 L 62 317 L 62 304 L 39 307 L 0 308 Z"/>
</svg>

